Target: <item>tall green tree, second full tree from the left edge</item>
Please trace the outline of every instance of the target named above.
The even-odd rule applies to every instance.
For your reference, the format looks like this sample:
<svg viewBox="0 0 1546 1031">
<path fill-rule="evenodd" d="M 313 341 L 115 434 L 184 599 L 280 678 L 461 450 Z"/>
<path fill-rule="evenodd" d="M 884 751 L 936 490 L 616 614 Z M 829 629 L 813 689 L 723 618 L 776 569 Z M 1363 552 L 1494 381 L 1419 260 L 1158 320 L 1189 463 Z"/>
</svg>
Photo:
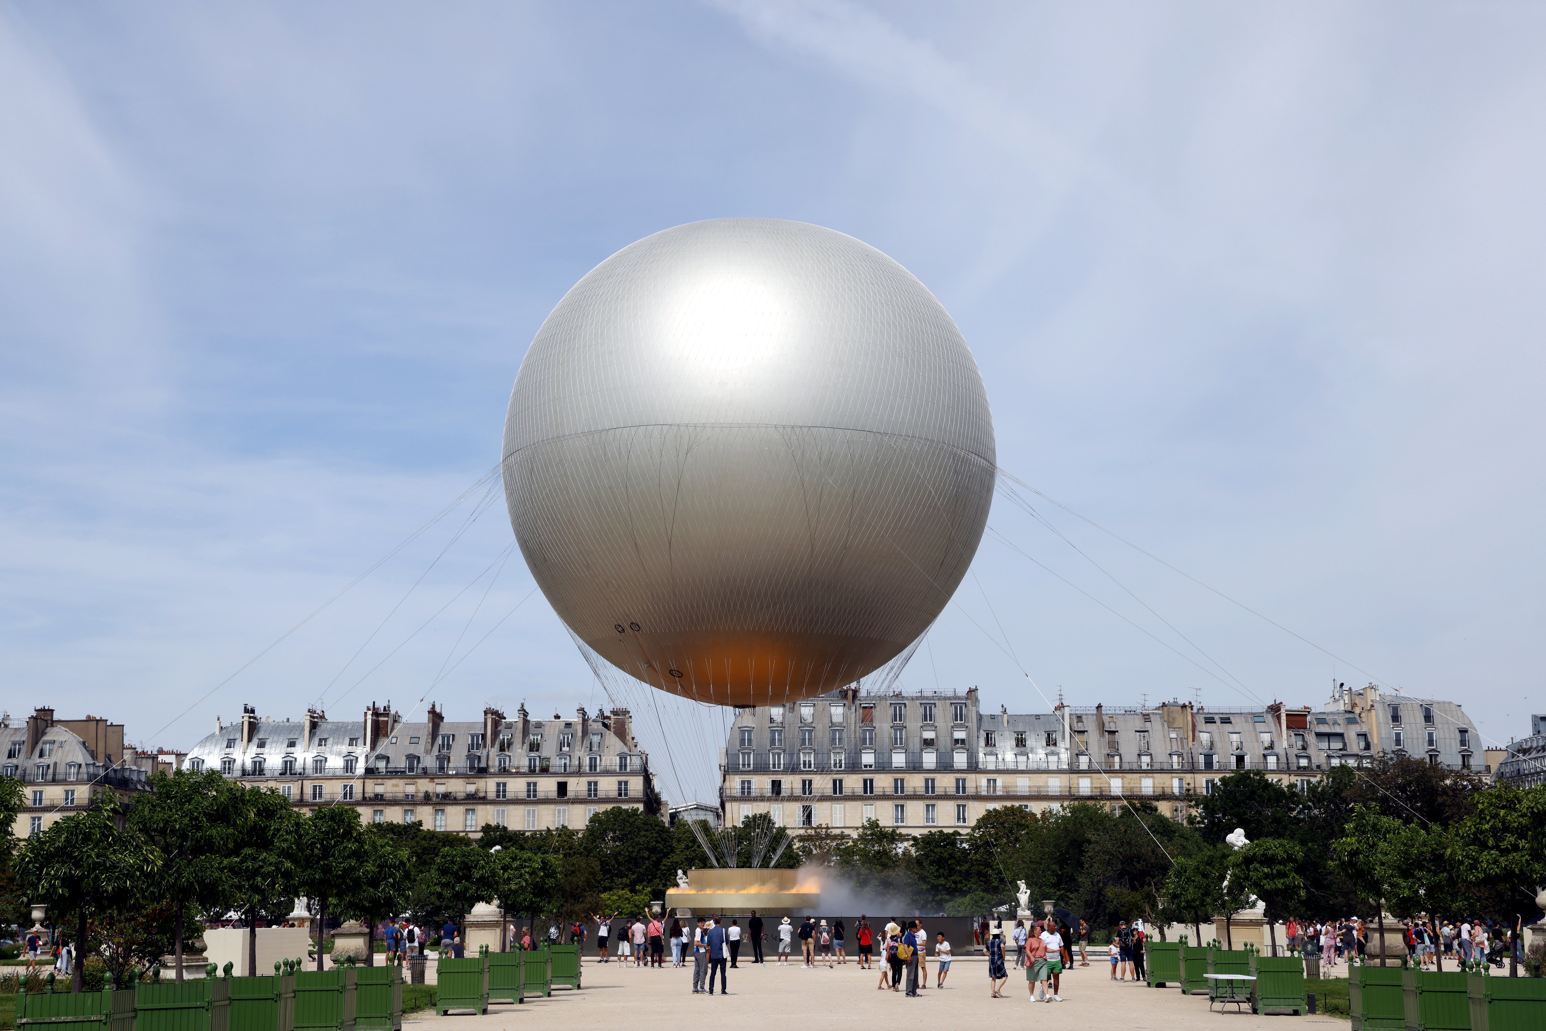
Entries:
<svg viewBox="0 0 1546 1031">
<path fill-rule="evenodd" d="M 182 983 L 184 914 L 189 906 L 224 912 L 232 895 L 227 856 L 237 850 L 238 793 L 220 770 L 153 773 L 135 799 L 128 825 L 156 850 L 153 895 L 172 904 L 173 971 Z"/>
</svg>

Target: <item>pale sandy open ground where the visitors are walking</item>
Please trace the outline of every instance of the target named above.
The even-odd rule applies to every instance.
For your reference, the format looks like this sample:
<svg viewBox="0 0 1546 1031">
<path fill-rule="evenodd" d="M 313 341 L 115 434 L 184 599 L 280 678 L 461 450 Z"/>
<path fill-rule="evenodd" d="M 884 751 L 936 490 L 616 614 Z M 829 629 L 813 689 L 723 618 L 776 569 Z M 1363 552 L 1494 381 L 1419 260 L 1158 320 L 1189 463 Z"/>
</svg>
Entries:
<svg viewBox="0 0 1546 1031">
<path fill-rule="evenodd" d="M 934 983 L 929 963 L 929 983 Z M 1005 999 L 988 992 L 988 961 L 957 958 L 945 988 L 929 988 L 908 999 L 903 992 L 877 991 L 880 971 L 861 971 L 852 960 L 846 966 L 804 969 L 796 963 L 779 968 L 742 961 L 728 971 L 728 995 L 694 995 L 693 969 L 669 966 L 651 969 L 621 963 L 595 963 L 587 958 L 580 991 L 553 989 L 550 999 L 532 999 L 518 1006 L 495 1005 L 482 1017 L 433 1011 L 404 1019 L 405 1031 L 518 1031 L 530 1026 L 628 1026 L 629 1031 L 680 1031 L 683 1020 L 810 1020 L 827 1026 L 833 1019 L 855 1014 L 877 1020 L 928 1020 L 940 1028 L 976 1028 L 1003 1017 L 1056 1019 L 1065 1023 L 1115 1022 L 1122 1031 L 1211 1031 L 1245 1028 L 1289 1028 L 1299 1025 L 1342 1025 L 1328 1016 L 1254 1016 L 1251 1012 L 1209 1012 L 1207 995 L 1183 995 L 1175 988 L 1149 988 L 1142 982 L 1113 982 L 1110 965 L 1064 972 L 1061 1003 L 1027 1002 L 1025 974 L 1010 968 Z M 717 988 L 717 985 L 716 985 Z M 700 1012 L 699 1012 L 700 1011 Z M 750 1026 L 744 1025 L 742 1026 Z"/>
</svg>

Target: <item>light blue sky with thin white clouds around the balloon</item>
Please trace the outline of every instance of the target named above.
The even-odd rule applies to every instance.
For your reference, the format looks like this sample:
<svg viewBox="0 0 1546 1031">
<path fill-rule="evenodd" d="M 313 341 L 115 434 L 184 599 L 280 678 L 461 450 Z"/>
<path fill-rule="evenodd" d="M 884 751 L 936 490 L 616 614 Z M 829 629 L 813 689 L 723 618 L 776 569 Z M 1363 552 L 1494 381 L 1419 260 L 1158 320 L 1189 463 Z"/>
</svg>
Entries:
<svg viewBox="0 0 1546 1031">
<path fill-rule="evenodd" d="M 603 258 L 756 215 L 914 272 L 1040 492 L 901 686 L 1377 682 L 1523 736 L 1543 40 L 1524 3 L 3 2 L 0 705 L 147 748 L 606 705 L 484 479 L 510 385 Z M 724 714 L 634 705 L 713 798 Z"/>
</svg>

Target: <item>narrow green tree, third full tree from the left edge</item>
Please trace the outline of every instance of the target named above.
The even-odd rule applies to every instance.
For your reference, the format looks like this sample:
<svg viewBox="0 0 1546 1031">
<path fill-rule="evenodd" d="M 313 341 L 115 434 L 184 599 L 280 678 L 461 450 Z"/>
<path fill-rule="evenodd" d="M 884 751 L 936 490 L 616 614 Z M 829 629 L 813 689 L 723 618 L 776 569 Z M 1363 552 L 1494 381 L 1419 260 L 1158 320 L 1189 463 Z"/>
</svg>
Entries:
<svg viewBox="0 0 1546 1031">
<path fill-rule="evenodd" d="M 300 893 L 295 866 L 301 816 L 274 788 L 237 788 L 237 839 L 226 855 L 226 904 L 247 926 L 247 977 L 258 975 L 258 921 L 283 920 Z"/>
</svg>

